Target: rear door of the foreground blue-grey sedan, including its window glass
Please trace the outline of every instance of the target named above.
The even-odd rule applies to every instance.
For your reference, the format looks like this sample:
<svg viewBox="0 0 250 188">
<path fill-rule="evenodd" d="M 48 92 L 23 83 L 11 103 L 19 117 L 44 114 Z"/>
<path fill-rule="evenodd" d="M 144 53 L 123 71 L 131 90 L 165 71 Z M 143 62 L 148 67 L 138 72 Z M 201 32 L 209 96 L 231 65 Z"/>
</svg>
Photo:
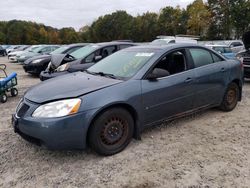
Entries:
<svg viewBox="0 0 250 188">
<path fill-rule="evenodd" d="M 196 74 L 195 108 L 220 103 L 229 74 L 228 62 L 204 48 L 190 48 L 189 51 Z"/>
</svg>

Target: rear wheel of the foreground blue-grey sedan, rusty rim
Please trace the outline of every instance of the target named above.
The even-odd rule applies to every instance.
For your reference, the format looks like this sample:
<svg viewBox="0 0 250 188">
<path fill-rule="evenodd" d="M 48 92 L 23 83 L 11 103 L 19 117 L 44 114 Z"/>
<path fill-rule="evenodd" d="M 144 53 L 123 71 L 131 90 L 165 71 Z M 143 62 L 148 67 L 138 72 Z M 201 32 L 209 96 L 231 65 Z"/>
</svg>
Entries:
<svg viewBox="0 0 250 188">
<path fill-rule="evenodd" d="M 220 109 L 225 112 L 232 111 L 238 103 L 239 94 L 240 94 L 239 86 L 234 82 L 230 83 L 223 97 Z"/>
</svg>

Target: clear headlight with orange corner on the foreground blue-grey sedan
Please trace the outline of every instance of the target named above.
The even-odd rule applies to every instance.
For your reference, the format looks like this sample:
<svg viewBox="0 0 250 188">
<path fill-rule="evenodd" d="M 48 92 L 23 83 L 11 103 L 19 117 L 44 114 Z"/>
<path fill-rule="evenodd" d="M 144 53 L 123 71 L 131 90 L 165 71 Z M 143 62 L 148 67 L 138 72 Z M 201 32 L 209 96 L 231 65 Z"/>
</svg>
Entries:
<svg viewBox="0 0 250 188">
<path fill-rule="evenodd" d="M 63 117 L 78 112 L 81 105 L 81 99 L 66 99 L 51 102 L 39 106 L 32 114 L 33 117 L 52 118 Z"/>
</svg>

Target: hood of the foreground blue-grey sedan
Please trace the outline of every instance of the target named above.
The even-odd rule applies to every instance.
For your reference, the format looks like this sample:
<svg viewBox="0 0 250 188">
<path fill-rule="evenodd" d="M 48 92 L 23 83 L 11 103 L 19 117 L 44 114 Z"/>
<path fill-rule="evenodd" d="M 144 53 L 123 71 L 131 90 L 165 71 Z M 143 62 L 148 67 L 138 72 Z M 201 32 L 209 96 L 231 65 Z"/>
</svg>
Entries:
<svg viewBox="0 0 250 188">
<path fill-rule="evenodd" d="M 59 99 L 79 97 L 121 82 L 123 81 L 77 72 L 41 82 L 29 89 L 24 97 L 41 104 Z"/>
</svg>

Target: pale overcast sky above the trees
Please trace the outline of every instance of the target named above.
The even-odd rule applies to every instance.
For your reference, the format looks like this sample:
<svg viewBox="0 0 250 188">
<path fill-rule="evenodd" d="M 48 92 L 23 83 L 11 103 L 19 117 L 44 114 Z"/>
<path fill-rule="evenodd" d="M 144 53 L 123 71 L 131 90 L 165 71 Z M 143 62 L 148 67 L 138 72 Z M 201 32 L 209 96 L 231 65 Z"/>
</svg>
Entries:
<svg viewBox="0 0 250 188">
<path fill-rule="evenodd" d="M 165 6 L 185 8 L 193 0 L 1 0 L 0 20 L 28 20 L 56 28 L 90 25 L 99 16 L 126 10 L 136 16 Z"/>
</svg>

